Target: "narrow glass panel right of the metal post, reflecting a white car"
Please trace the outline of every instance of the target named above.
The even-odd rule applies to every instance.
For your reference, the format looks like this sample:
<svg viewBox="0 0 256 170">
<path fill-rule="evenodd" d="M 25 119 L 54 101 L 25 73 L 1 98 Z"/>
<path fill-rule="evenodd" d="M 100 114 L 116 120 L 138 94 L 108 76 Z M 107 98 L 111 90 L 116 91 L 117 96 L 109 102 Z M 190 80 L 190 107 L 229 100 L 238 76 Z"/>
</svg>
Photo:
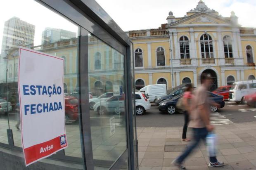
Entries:
<svg viewBox="0 0 256 170">
<path fill-rule="evenodd" d="M 93 160 L 96 167 L 109 169 L 127 149 L 124 55 L 93 35 L 89 35 L 88 50 L 88 66 L 93 64 L 97 52 L 112 56 L 102 57 L 109 62 L 102 61 L 100 71 L 88 67 L 90 92 L 100 96 L 113 89 L 114 96 L 89 99 Z"/>
</svg>

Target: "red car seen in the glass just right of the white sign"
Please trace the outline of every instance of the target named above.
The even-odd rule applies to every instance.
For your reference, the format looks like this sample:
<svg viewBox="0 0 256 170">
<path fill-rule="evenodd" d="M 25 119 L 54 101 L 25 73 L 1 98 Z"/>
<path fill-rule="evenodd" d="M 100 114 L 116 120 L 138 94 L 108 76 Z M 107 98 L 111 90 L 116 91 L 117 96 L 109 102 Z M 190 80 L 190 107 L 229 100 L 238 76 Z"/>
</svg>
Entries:
<svg viewBox="0 0 256 170">
<path fill-rule="evenodd" d="M 66 123 L 78 119 L 78 99 L 73 96 L 65 95 L 65 118 Z"/>
</svg>

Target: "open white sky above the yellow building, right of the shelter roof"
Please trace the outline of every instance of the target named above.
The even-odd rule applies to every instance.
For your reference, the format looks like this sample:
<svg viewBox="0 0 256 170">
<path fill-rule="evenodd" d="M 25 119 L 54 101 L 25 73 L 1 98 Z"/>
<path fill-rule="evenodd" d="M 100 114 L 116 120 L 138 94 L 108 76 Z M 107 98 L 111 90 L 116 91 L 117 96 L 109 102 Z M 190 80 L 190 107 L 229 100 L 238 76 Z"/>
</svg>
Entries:
<svg viewBox="0 0 256 170">
<path fill-rule="evenodd" d="M 167 23 L 168 12 L 184 17 L 199 0 L 96 0 L 123 31 L 158 28 Z M 203 0 L 223 17 L 235 12 L 244 27 L 256 27 L 256 0 Z"/>
</svg>

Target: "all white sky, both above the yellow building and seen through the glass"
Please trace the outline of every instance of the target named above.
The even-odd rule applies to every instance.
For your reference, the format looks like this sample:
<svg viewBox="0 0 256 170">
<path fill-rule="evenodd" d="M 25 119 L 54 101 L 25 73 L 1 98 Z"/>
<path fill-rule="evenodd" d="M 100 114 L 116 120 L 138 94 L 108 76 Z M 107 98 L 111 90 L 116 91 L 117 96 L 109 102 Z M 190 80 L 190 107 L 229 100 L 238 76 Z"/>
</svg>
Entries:
<svg viewBox="0 0 256 170">
<path fill-rule="evenodd" d="M 197 6 L 199 0 L 96 0 L 116 21 L 123 31 L 158 28 L 167 23 L 168 12 L 175 17 L 183 17 Z M 239 24 L 256 27 L 256 0 L 203 0 L 223 17 L 234 11 Z M 0 52 L 4 23 L 12 17 L 36 26 L 34 45 L 41 44 L 42 32 L 46 27 L 61 28 L 76 32 L 78 27 L 60 17 L 34 0 L 6 0 L 0 5 Z"/>
</svg>

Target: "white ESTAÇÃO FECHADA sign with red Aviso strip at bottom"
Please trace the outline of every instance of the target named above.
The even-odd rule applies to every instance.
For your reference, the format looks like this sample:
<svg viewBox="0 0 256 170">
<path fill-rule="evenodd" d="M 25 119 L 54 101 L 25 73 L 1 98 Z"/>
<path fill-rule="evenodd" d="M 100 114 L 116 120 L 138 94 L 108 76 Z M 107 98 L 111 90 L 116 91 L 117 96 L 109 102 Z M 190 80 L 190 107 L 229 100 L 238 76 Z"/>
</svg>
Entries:
<svg viewBox="0 0 256 170">
<path fill-rule="evenodd" d="M 21 141 L 28 166 L 68 146 L 64 59 L 20 48 L 18 73 Z"/>
</svg>

